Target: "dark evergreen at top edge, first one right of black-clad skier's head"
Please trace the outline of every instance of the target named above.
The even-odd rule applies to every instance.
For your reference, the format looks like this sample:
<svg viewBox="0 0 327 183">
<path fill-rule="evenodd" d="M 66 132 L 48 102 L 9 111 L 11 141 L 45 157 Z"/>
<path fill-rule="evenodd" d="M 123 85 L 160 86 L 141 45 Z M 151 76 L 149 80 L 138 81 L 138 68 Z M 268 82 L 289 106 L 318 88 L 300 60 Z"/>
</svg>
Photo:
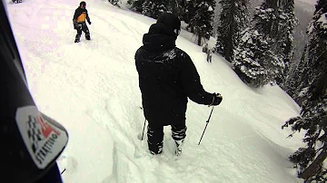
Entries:
<svg viewBox="0 0 327 183">
<path fill-rule="evenodd" d="M 198 45 L 202 39 L 209 39 L 213 34 L 213 15 L 215 0 L 194 0 L 194 15 L 189 21 L 189 27 L 198 37 Z"/>
</svg>

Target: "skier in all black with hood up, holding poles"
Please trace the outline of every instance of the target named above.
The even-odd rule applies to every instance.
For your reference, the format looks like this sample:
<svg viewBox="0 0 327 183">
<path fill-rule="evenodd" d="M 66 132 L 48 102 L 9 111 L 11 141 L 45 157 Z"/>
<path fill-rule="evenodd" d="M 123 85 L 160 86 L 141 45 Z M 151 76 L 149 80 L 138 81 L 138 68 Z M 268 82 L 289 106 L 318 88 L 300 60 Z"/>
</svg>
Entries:
<svg viewBox="0 0 327 183">
<path fill-rule="evenodd" d="M 203 105 L 219 105 L 219 93 L 205 92 L 190 56 L 176 47 L 181 21 L 174 14 L 163 13 L 134 55 L 142 93 L 144 116 L 148 121 L 148 149 L 154 155 L 163 152 L 163 127 L 171 126 L 175 153 L 182 153 L 186 137 L 187 98 Z"/>
</svg>

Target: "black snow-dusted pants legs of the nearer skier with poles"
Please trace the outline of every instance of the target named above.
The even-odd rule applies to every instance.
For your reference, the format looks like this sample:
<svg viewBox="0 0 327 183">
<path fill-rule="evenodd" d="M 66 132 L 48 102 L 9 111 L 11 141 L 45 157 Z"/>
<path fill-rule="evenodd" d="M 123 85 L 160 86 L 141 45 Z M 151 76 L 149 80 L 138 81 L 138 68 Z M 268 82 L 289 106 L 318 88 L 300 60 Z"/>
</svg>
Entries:
<svg viewBox="0 0 327 183">
<path fill-rule="evenodd" d="M 158 126 L 151 121 L 148 121 L 147 127 L 147 142 L 149 150 L 152 154 L 160 154 L 163 151 L 163 126 Z M 173 140 L 183 140 L 186 137 L 187 127 L 185 120 L 176 122 L 170 125 L 172 128 Z"/>
</svg>

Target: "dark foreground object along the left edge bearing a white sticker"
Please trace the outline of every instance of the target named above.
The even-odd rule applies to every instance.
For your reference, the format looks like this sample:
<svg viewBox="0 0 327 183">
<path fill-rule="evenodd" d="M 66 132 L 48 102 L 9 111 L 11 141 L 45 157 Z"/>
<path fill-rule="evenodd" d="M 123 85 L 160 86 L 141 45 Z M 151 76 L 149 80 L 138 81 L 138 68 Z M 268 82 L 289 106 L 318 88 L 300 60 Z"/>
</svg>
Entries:
<svg viewBox="0 0 327 183">
<path fill-rule="evenodd" d="M 1 178 L 11 183 L 61 183 L 62 178 L 55 159 L 64 150 L 68 133 L 62 125 L 37 110 L 28 89 L 24 66 L 7 17 L 4 0 L 0 3 L 0 24 L 0 157 L 3 167 Z M 45 152 L 45 149 L 41 149 L 46 145 L 42 143 L 46 143 L 46 138 L 49 138 L 45 137 L 45 134 L 51 133 L 41 131 L 39 122 L 48 125 L 46 130 L 60 130 L 61 135 L 65 136 L 65 144 L 56 146 L 58 153 Z M 44 141 L 38 143 L 42 138 Z M 53 150 L 50 146 L 47 148 Z M 34 152 L 35 156 L 32 156 Z M 52 158 L 48 159 L 50 156 Z"/>
</svg>

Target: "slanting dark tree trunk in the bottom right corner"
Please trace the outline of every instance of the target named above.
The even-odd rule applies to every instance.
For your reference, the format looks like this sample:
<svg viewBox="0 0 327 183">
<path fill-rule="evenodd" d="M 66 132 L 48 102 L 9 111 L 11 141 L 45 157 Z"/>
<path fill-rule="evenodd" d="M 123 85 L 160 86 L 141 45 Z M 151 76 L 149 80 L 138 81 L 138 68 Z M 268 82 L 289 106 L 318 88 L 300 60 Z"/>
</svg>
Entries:
<svg viewBox="0 0 327 183">
<path fill-rule="evenodd" d="M 310 164 L 310 166 L 307 169 L 304 169 L 304 171 L 302 171 L 299 177 L 305 180 L 311 178 L 319 169 L 319 166 L 322 165 L 323 160 L 326 158 L 327 158 L 327 145 L 324 145 L 322 152 L 318 155 L 316 159 L 312 161 L 312 164 Z"/>
</svg>

